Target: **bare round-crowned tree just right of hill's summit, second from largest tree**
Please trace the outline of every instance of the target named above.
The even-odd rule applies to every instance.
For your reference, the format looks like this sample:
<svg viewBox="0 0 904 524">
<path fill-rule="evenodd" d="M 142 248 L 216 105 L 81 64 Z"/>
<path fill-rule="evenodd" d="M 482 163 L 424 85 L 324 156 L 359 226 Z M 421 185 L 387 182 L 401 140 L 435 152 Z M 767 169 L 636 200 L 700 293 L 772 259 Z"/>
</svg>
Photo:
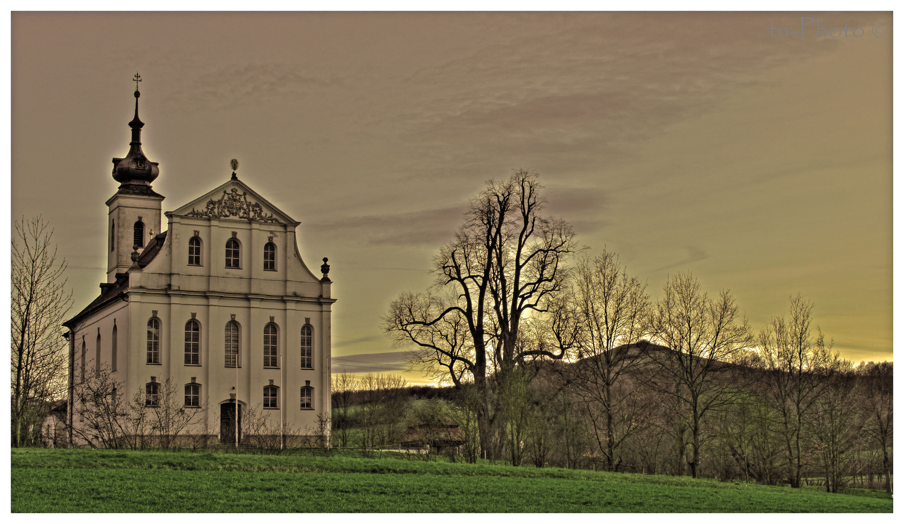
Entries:
<svg viewBox="0 0 904 524">
<path fill-rule="evenodd" d="M 739 388 L 727 378 L 730 363 L 749 345 L 750 329 L 730 291 L 710 298 L 690 273 L 665 282 L 650 329 L 669 349 L 647 352 L 657 373 L 647 384 L 672 395 L 691 432 L 691 475 L 697 478 L 707 414 L 729 405 Z"/>
</svg>

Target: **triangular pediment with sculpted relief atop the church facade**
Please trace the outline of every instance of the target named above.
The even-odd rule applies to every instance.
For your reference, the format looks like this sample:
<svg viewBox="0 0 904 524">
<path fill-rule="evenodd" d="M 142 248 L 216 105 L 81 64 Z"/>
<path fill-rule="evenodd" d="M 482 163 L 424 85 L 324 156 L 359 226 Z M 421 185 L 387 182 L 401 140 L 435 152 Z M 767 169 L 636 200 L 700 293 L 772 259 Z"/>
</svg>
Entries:
<svg viewBox="0 0 904 524">
<path fill-rule="evenodd" d="M 298 224 L 238 179 L 230 180 L 210 193 L 194 199 L 172 214 L 268 224 Z"/>
</svg>

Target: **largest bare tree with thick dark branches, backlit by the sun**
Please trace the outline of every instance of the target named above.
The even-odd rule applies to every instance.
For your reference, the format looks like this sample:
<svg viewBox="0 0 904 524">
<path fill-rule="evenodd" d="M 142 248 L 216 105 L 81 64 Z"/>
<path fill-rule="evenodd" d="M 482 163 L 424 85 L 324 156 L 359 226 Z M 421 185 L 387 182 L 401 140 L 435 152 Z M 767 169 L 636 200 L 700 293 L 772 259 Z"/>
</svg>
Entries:
<svg viewBox="0 0 904 524">
<path fill-rule="evenodd" d="M 456 239 L 434 259 L 438 293 L 403 293 L 393 300 L 383 329 L 414 360 L 443 371 L 453 384 L 474 383 L 481 448 L 492 441 L 492 385 L 526 357 L 561 358 L 551 348 L 519 348 L 529 311 L 561 290 L 564 262 L 576 251 L 569 224 L 541 214 L 536 174 L 519 170 L 490 181 L 471 200 Z"/>
</svg>

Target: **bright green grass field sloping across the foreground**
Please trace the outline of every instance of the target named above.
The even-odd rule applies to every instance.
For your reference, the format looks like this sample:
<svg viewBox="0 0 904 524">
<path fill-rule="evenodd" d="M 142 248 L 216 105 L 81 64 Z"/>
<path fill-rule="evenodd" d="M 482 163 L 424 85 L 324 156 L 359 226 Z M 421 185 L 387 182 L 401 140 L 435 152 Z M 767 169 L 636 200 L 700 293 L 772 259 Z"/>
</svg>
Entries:
<svg viewBox="0 0 904 524">
<path fill-rule="evenodd" d="M 14 512 L 890 512 L 831 494 L 686 477 L 223 452 L 13 450 Z"/>
</svg>

